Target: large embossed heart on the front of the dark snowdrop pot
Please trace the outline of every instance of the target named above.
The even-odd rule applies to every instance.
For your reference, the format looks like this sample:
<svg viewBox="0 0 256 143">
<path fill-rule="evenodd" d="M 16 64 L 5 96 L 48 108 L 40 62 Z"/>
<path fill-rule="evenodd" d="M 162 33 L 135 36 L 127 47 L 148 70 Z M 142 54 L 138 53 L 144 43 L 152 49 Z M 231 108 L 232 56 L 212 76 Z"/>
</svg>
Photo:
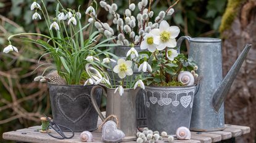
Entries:
<svg viewBox="0 0 256 143">
<path fill-rule="evenodd" d="M 85 117 L 91 109 L 89 95 L 81 94 L 72 98 L 64 93 L 57 94 L 57 107 L 68 121 L 76 123 Z M 70 109 L 72 107 L 72 109 Z M 75 112 L 74 112 L 75 111 Z"/>
</svg>

